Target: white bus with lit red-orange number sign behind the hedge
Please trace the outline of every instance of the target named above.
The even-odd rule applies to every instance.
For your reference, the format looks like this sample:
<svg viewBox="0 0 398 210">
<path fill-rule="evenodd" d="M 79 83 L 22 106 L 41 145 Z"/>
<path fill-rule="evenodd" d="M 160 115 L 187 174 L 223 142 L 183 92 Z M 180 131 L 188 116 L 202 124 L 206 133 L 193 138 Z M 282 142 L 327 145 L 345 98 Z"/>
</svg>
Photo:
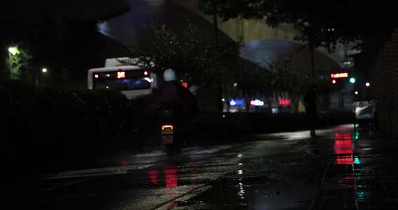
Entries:
<svg viewBox="0 0 398 210">
<path fill-rule="evenodd" d="M 88 88 L 119 90 L 128 99 L 140 95 L 151 95 L 153 88 L 158 88 L 156 74 L 138 66 L 110 65 L 106 61 L 104 68 L 88 70 Z"/>
</svg>

